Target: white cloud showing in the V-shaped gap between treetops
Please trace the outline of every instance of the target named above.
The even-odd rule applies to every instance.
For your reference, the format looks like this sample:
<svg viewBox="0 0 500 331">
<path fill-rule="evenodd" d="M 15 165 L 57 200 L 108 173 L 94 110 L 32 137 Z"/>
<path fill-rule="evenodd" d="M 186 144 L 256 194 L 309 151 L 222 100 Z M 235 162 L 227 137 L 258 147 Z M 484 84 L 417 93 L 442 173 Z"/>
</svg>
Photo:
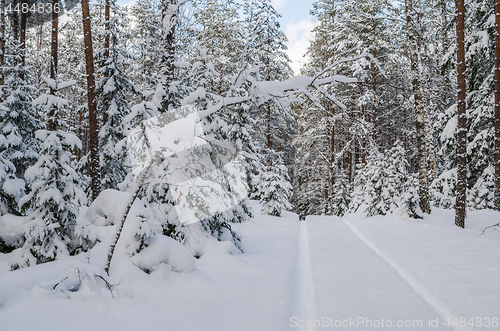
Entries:
<svg viewBox="0 0 500 331">
<path fill-rule="evenodd" d="M 287 54 L 292 60 L 292 69 L 296 75 L 300 73 L 300 68 L 308 60 L 304 55 L 313 38 L 312 29 L 315 26 L 316 22 L 301 20 L 298 23 L 290 22 L 285 28 L 289 40 Z"/>
</svg>

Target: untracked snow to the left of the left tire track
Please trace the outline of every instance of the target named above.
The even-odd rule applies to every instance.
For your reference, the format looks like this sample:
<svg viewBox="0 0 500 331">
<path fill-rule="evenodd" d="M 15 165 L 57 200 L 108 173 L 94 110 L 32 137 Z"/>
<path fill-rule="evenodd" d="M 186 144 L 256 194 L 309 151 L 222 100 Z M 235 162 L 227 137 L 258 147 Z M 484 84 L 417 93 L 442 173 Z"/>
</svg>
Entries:
<svg viewBox="0 0 500 331">
<path fill-rule="evenodd" d="M 146 274 L 117 251 L 114 298 L 100 278 L 89 276 L 97 270 L 84 255 L 7 272 L 7 256 L 0 254 L 2 330 L 285 330 L 297 230 L 294 214 L 259 217 L 239 229 L 245 254 L 228 254 L 228 242 L 212 242 L 196 269 L 184 273 L 163 264 Z M 91 251 L 91 261 L 102 248 L 99 243 Z M 76 268 L 88 283 L 71 292 Z M 68 275 L 71 282 L 52 289 Z"/>
</svg>

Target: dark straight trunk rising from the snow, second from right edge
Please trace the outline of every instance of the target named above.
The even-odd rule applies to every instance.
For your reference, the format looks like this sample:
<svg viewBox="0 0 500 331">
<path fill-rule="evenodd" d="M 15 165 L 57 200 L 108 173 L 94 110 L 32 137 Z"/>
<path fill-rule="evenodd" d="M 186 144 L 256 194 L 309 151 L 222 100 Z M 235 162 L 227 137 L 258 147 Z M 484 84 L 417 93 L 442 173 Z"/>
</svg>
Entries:
<svg viewBox="0 0 500 331">
<path fill-rule="evenodd" d="M 458 153 L 457 153 L 457 200 L 455 224 L 465 227 L 465 205 L 467 199 L 467 114 L 465 112 L 465 46 L 464 46 L 464 0 L 456 0 L 457 6 L 457 110 L 458 110 Z"/>
</svg>

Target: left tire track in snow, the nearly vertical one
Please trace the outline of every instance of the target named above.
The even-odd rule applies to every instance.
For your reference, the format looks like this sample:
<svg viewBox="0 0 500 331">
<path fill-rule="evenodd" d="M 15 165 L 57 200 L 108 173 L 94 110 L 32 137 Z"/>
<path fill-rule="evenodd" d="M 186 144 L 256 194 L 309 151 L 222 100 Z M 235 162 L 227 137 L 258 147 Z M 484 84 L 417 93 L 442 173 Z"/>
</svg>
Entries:
<svg viewBox="0 0 500 331">
<path fill-rule="evenodd" d="M 313 321 L 316 317 L 316 303 L 314 299 L 314 279 L 311 266 L 311 253 L 309 250 L 309 235 L 307 222 L 299 224 L 297 243 L 297 260 L 295 264 L 295 279 L 292 296 L 292 318 L 297 321 Z M 291 325 L 290 325 L 291 327 Z M 291 327 L 291 329 L 297 329 Z M 301 330 L 314 330 L 313 328 L 300 328 Z"/>
</svg>

